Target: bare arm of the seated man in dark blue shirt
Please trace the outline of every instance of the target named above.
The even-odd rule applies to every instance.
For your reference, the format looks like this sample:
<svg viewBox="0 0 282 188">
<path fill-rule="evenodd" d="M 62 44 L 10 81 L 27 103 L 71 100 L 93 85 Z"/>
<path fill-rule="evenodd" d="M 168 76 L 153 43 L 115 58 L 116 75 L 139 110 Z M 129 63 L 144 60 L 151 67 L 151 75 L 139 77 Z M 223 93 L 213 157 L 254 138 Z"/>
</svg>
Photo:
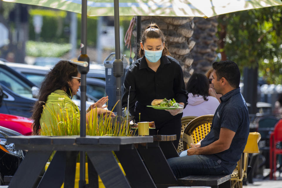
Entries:
<svg viewBox="0 0 282 188">
<path fill-rule="evenodd" d="M 204 147 L 191 145 L 191 148 L 187 150 L 187 155 L 210 155 L 228 150 L 234 135 L 234 131 L 221 127 L 218 140 Z"/>
</svg>

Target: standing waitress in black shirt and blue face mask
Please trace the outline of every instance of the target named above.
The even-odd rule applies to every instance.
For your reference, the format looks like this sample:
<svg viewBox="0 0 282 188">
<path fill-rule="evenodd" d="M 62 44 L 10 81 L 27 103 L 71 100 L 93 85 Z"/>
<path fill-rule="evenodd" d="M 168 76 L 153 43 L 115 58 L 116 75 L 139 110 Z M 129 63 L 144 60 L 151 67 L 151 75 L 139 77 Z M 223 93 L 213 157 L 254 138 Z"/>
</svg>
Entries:
<svg viewBox="0 0 282 188">
<path fill-rule="evenodd" d="M 127 107 L 130 88 L 129 112 L 135 122 L 154 121 L 159 135 L 177 135 L 177 148 L 181 132 L 181 109 L 157 110 L 151 107 L 154 99 L 174 98 L 179 106 L 187 105 L 187 92 L 179 62 L 164 45 L 165 36 L 156 24 L 150 24 L 141 36 L 140 59 L 127 70 L 124 80 L 122 107 Z M 158 131 L 158 132 L 157 132 Z"/>
</svg>

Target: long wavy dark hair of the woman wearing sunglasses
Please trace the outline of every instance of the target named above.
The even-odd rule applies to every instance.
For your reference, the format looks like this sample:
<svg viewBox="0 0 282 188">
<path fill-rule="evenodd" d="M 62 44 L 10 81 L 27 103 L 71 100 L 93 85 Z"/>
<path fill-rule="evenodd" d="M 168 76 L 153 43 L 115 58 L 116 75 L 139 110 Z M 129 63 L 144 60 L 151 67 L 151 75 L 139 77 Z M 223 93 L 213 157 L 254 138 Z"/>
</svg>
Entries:
<svg viewBox="0 0 282 188">
<path fill-rule="evenodd" d="M 40 118 L 43 111 L 42 105 L 46 103 L 48 95 L 57 89 L 66 88 L 66 93 L 71 96 L 70 86 L 68 81 L 70 81 L 72 76 L 77 76 L 78 70 L 77 65 L 70 63 L 69 61 L 59 61 L 53 69 L 46 75 L 45 79 L 41 83 L 41 88 L 39 90 L 39 98 L 35 103 L 31 119 L 33 119 L 33 135 L 39 135 L 40 130 Z"/>
</svg>

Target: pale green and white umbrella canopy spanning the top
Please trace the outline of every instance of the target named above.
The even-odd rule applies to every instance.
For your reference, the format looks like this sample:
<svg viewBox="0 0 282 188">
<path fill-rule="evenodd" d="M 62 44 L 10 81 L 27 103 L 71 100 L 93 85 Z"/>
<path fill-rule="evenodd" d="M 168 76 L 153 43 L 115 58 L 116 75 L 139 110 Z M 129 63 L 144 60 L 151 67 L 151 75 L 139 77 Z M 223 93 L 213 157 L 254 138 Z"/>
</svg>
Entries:
<svg viewBox="0 0 282 188">
<path fill-rule="evenodd" d="M 2 0 L 81 14 L 81 0 Z M 229 12 L 282 5 L 281 0 L 120 0 L 120 16 L 212 17 Z M 113 0 L 88 0 L 87 16 L 114 16 Z"/>
</svg>

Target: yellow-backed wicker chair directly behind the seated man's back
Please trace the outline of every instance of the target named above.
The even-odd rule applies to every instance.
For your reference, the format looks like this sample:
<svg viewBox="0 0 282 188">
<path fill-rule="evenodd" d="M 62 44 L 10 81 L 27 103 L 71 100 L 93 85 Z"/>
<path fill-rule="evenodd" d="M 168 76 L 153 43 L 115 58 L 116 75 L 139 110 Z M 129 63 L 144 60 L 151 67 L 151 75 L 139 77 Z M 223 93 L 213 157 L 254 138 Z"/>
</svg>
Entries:
<svg viewBox="0 0 282 188">
<path fill-rule="evenodd" d="M 231 174 L 231 188 L 242 188 L 243 179 L 247 177 L 247 167 L 249 153 L 259 153 L 258 142 L 261 139 L 259 132 L 250 132 L 247 140 L 247 144 L 241 155 L 241 159 L 237 162 L 237 167 Z M 244 162 L 242 163 L 242 157 L 244 156 Z M 239 169 L 239 170 L 238 170 Z"/>
</svg>

